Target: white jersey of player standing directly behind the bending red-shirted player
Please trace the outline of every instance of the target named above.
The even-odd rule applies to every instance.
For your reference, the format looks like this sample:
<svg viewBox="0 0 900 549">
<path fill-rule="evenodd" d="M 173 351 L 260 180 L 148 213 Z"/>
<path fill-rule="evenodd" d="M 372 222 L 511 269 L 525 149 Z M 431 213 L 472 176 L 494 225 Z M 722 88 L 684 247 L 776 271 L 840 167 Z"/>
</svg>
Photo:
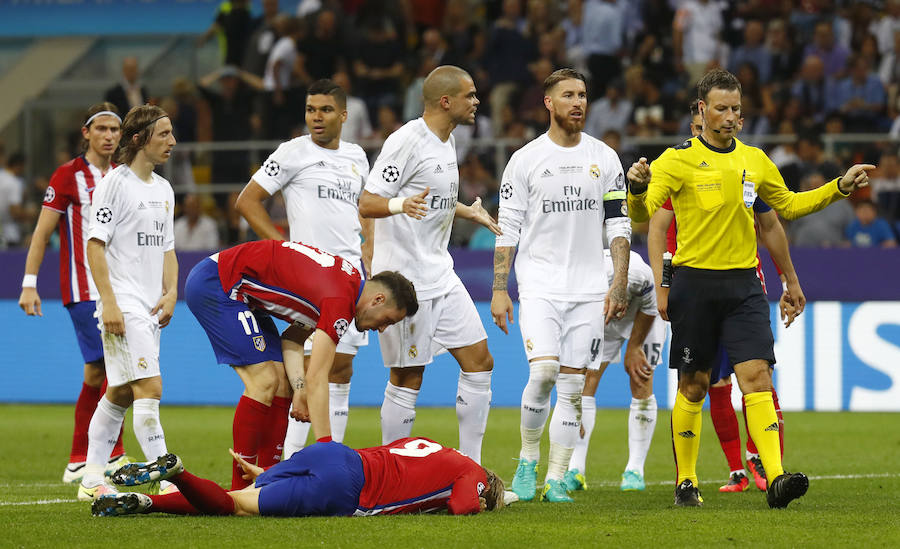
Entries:
<svg viewBox="0 0 900 549">
<path fill-rule="evenodd" d="M 292 241 L 339 255 L 359 269 L 359 195 L 368 173 L 359 145 L 341 141 L 336 150 L 326 149 L 304 135 L 279 145 L 253 180 L 269 194 L 282 192 Z"/>
</svg>

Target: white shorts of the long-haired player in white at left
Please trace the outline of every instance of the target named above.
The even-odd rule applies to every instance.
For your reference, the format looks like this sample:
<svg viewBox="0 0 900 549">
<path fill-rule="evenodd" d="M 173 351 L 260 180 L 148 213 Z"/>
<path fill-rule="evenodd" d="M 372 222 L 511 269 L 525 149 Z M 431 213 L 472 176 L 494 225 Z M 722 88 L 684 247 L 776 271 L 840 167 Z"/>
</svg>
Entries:
<svg viewBox="0 0 900 549">
<path fill-rule="evenodd" d="M 101 307 L 97 307 L 106 363 L 106 382 L 118 387 L 139 379 L 159 375 L 159 319 L 149 313 L 123 312 L 125 335 L 103 329 Z"/>
</svg>

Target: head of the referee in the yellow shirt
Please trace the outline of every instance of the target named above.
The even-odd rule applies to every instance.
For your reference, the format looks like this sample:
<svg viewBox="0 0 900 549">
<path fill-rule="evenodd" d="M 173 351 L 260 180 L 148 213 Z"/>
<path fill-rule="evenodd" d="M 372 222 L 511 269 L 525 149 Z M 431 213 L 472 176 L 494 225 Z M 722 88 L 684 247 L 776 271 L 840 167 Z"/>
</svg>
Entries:
<svg viewBox="0 0 900 549">
<path fill-rule="evenodd" d="M 697 107 L 703 119 L 703 139 L 727 148 L 740 130 L 741 83 L 723 69 L 713 69 L 697 83 Z"/>
</svg>

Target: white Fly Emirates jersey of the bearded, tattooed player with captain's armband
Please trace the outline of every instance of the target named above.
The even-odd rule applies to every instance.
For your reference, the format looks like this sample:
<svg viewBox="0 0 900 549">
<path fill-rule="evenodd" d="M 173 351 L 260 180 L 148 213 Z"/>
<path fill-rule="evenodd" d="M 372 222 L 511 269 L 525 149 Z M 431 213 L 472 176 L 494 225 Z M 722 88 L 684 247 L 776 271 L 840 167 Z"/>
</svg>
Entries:
<svg viewBox="0 0 900 549">
<path fill-rule="evenodd" d="M 586 133 L 574 147 L 543 134 L 513 154 L 500 207 L 524 212 L 515 263 L 520 296 L 591 301 L 606 293 L 603 202 L 624 189 L 615 151 Z"/>
</svg>

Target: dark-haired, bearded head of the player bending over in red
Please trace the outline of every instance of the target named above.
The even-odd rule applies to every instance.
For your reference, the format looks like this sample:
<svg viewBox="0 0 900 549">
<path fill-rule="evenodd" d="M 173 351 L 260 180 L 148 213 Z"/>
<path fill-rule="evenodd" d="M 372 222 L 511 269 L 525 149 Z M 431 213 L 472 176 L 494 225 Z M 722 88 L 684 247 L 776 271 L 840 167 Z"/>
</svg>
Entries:
<svg viewBox="0 0 900 549">
<path fill-rule="evenodd" d="M 363 286 L 356 302 L 356 329 L 383 332 L 418 310 L 413 283 L 396 271 L 382 271 Z"/>
</svg>

